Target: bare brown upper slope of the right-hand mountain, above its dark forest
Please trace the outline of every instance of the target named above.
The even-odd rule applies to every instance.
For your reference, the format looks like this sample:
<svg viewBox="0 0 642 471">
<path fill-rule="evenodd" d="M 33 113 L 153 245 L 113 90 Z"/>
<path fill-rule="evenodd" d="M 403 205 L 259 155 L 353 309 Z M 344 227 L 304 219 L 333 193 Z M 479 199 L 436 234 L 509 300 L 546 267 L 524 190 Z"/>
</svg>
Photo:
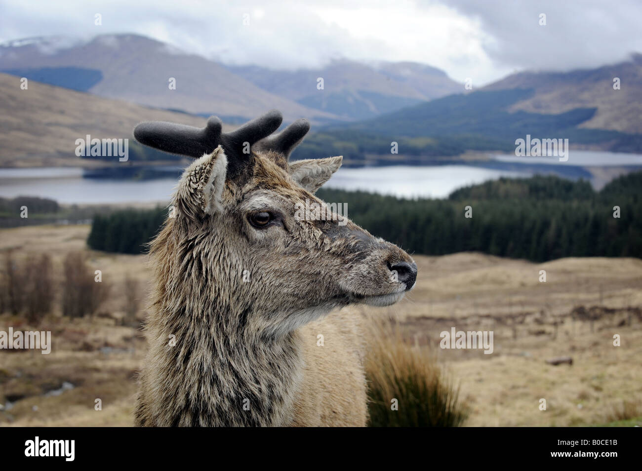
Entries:
<svg viewBox="0 0 642 471">
<path fill-rule="evenodd" d="M 613 89 L 614 78 L 620 90 Z M 598 69 L 570 72 L 523 72 L 491 83 L 483 90 L 532 89 L 532 96 L 516 101 L 509 112 L 542 114 L 596 108 L 579 128 L 642 133 L 642 55 Z"/>
</svg>

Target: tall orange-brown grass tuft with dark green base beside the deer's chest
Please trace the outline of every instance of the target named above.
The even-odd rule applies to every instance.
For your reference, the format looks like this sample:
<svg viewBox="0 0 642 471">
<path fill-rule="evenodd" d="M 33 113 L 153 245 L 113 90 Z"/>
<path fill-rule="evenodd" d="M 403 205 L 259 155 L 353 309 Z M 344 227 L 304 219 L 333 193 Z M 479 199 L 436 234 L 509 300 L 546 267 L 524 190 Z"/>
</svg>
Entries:
<svg viewBox="0 0 642 471">
<path fill-rule="evenodd" d="M 467 417 L 458 388 L 447 381 L 426 346 L 408 345 L 379 325 L 366 357 L 370 427 L 457 427 Z M 392 409 L 396 399 L 397 410 Z"/>
</svg>

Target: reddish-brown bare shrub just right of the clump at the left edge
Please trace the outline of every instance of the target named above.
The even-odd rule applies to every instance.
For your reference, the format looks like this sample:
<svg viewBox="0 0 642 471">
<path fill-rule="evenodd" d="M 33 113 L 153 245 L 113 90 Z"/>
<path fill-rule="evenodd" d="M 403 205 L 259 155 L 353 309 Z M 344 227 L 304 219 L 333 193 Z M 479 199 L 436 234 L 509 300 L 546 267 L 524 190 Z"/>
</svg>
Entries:
<svg viewBox="0 0 642 471">
<path fill-rule="evenodd" d="M 94 281 L 94 272 L 87 266 L 85 255 L 69 252 L 64 261 L 62 313 L 71 318 L 92 315 L 107 299 L 109 286 Z"/>
</svg>

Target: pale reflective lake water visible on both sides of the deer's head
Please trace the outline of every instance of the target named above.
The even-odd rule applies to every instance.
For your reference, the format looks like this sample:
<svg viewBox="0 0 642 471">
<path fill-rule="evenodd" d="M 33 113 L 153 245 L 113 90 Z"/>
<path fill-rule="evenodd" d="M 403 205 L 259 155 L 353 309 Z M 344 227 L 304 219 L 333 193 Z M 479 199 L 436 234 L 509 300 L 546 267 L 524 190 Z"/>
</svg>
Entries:
<svg viewBox="0 0 642 471">
<path fill-rule="evenodd" d="M 568 162 L 559 162 L 555 157 L 494 155 L 489 161 L 469 164 L 342 168 L 325 186 L 404 197 L 446 198 L 462 186 L 501 176 L 555 173 L 593 181 L 593 167 L 606 169 L 607 174 L 609 167 L 642 168 L 642 155 L 571 151 Z M 149 180 L 83 178 L 80 167 L 5 168 L 0 169 L 0 196 L 40 196 L 60 203 L 165 202 L 177 181 L 175 176 Z"/>
</svg>

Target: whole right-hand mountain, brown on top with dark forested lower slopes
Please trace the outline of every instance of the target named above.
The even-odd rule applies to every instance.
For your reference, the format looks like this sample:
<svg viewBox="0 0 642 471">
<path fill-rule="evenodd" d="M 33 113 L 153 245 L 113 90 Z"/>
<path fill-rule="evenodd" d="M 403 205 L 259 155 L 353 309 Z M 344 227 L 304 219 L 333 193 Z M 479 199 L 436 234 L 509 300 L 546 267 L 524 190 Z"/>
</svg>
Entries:
<svg viewBox="0 0 642 471">
<path fill-rule="evenodd" d="M 616 77 L 620 90 L 613 89 Z M 514 74 L 469 94 L 329 124 L 294 156 L 324 151 L 347 162 L 421 163 L 468 150 L 514 151 L 526 135 L 569 139 L 575 149 L 642 153 L 642 55 L 598 69 Z M 392 142 L 399 155 L 391 155 Z"/>
</svg>

